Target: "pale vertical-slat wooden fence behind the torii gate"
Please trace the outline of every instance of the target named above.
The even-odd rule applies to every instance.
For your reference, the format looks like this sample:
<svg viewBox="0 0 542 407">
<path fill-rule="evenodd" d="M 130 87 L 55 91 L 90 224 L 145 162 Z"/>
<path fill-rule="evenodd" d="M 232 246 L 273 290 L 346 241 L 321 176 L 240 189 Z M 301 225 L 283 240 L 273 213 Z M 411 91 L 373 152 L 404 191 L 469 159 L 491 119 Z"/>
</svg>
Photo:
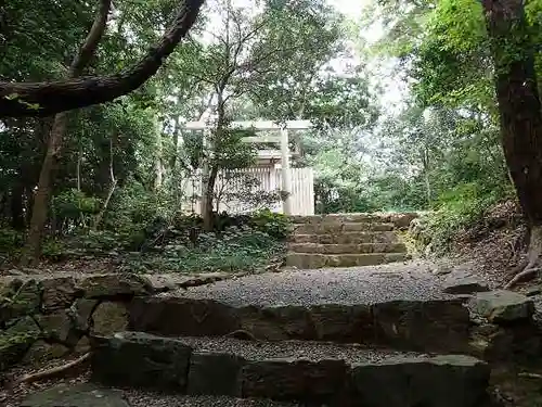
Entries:
<svg viewBox="0 0 542 407">
<path fill-rule="evenodd" d="M 312 168 L 289 168 L 292 174 L 292 215 L 314 215 L 314 174 Z M 249 187 L 247 180 L 256 179 L 257 185 Z M 182 182 L 185 199 L 181 207 L 186 212 L 201 214 L 202 176 L 186 178 Z M 282 169 L 255 167 L 220 173 L 215 186 L 215 208 L 230 214 L 241 214 L 254 211 L 256 207 L 244 194 L 255 194 L 259 191 L 279 192 L 282 190 Z M 234 196 L 234 198 L 232 198 Z M 283 203 L 274 202 L 271 211 L 283 213 Z"/>
</svg>

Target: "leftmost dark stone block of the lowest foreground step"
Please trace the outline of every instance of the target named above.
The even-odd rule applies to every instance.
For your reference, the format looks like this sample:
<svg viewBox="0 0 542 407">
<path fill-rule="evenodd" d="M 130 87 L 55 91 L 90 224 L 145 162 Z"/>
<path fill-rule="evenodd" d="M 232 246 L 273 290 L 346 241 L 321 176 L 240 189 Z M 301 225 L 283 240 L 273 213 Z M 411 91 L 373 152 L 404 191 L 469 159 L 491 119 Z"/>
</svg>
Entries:
<svg viewBox="0 0 542 407">
<path fill-rule="evenodd" d="M 184 392 L 192 348 L 142 332 L 93 338 L 92 379 L 108 385 Z"/>
</svg>

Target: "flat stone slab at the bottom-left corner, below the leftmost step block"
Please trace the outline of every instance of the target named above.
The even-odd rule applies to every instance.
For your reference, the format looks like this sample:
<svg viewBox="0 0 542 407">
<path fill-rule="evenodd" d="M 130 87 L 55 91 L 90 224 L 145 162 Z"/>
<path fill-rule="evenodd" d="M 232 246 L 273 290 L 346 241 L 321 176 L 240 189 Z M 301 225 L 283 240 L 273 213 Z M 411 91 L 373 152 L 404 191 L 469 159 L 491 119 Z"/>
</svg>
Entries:
<svg viewBox="0 0 542 407">
<path fill-rule="evenodd" d="M 61 384 L 34 393 L 20 407 L 130 407 L 122 392 L 90 383 Z"/>
</svg>

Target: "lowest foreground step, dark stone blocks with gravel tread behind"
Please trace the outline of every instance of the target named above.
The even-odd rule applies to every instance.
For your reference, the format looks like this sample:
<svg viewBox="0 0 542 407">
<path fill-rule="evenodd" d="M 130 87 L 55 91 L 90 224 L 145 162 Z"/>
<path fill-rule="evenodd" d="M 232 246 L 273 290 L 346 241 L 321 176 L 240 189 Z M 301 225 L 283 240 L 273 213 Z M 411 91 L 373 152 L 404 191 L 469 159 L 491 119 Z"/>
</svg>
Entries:
<svg viewBox="0 0 542 407">
<path fill-rule="evenodd" d="M 91 378 L 113 386 L 337 407 L 475 407 L 488 399 L 489 366 L 465 355 L 141 332 L 93 342 Z"/>
</svg>

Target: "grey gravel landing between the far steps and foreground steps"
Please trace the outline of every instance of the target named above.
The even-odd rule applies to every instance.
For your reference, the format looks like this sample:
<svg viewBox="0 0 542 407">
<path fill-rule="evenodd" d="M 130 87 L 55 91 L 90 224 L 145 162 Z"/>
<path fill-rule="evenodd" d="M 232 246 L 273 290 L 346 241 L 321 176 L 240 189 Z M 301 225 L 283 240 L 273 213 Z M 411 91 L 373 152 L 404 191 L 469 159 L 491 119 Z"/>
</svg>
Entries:
<svg viewBox="0 0 542 407">
<path fill-rule="evenodd" d="M 347 269 L 296 270 L 247 276 L 164 295 L 214 298 L 232 306 L 374 304 L 392 300 L 449 298 L 435 265 L 395 263 Z"/>
</svg>

